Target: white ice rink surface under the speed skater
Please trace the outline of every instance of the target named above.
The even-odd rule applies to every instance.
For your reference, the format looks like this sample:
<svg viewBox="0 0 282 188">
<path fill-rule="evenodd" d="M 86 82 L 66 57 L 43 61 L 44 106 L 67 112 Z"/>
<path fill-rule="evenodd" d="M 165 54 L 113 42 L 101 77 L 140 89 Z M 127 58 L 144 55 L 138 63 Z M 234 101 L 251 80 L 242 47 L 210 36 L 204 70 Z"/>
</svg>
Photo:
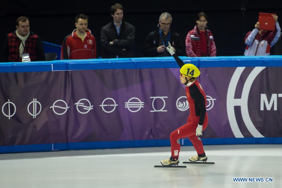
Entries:
<svg viewBox="0 0 282 188">
<path fill-rule="evenodd" d="M 0 188 L 267 188 L 282 187 L 282 145 L 206 145 L 207 162 L 182 164 L 196 155 L 182 146 L 184 169 L 154 168 L 170 147 L 0 154 Z M 273 182 L 233 182 L 233 177 Z"/>
</svg>

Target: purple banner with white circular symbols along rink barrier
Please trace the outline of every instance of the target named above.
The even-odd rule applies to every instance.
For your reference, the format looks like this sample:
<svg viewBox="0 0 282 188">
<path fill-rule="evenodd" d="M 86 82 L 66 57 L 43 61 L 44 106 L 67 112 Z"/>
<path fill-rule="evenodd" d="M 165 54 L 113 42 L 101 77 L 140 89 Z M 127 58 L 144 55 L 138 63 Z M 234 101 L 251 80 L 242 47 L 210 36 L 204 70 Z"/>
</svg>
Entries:
<svg viewBox="0 0 282 188">
<path fill-rule="evenodd" d="M 201 68 L 202 138 L 282 136 L 282 67 Z M 0 73 L 0 145 L 169 139 L 189 106 L 179 69 Z"/>
</svg>

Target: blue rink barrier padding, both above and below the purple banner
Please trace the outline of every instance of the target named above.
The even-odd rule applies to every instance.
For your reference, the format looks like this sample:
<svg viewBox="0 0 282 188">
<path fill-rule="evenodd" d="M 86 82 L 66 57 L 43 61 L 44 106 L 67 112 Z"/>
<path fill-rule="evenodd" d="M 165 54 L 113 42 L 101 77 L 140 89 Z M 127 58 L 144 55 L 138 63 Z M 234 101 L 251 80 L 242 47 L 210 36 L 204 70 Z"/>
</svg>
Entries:
<svg viewBox="0 0 282 188">
<path fill-rule="evenodd" d="M 228 57 L 180 57 L 185 63 L 193 63 L 198 67 L 281 67 L 282 56 L 228 56 Z M 173 57 L 156 58 L 118 58 L 88 60 L 55 60 L 52 62 L 9 62 L 0 64 L 0 72 L 41 72 L 65 70 L 94 69 L 147 69 L 147 68 L 179 68 Z M 188 139 L 181 140 L 184 146 L 190 146 Z M 282 138 L 203 138 L 203 144 L 282 144 Z M 166 140 L 129 140 L 112 142 L 83 142 L 61 144 L 33 144 L 0 146 L 0 153 L 40 152 L 68 149 L 103 149 L 170 146 Z"/>
</svg>

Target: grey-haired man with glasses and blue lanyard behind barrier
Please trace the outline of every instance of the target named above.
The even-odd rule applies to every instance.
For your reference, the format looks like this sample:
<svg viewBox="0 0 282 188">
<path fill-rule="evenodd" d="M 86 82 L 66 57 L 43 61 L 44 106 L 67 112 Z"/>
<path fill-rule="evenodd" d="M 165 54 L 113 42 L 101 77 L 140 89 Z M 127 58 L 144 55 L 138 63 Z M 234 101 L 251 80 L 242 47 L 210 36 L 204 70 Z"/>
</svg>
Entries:
<svg viewBox="0 0 282 188">
<path fill-rule="evenodd" d="M 159 17 L 158 28 L 149 33 L 145 40 L 142 53 L 147 57 L 170 56 L 166 46 L 170 42 L 176 55 L 183 55 L 183 44 L 178 33 L 170 29 L 172 17 L 169 13 L 162 13 Z"/>
</svg>

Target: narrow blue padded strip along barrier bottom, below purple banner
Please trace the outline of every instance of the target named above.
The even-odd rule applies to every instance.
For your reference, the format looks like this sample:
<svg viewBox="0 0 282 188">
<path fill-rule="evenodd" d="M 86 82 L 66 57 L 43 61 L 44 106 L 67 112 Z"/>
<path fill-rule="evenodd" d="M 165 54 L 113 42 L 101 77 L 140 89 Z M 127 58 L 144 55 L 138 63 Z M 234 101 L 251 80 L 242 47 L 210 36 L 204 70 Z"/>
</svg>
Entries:
<svg viewBox="0 0 282 188">
<path fill-rule="evenodd" d="M 225 144 L 282 144 L 282 138 L 202 138 L 204 145 Z M 189 139 L 180 139 L 181 146 L 192 146 Z M 113 149 L 135 147 L 160 147 L 170 146 L 170 140 L 127 140 L 111 142 L 79 142 L 60 144 L 33 144 L 0 146 L 0 154 L 21 152 L 43 152 L 74 149 Z"/>
</svg>

